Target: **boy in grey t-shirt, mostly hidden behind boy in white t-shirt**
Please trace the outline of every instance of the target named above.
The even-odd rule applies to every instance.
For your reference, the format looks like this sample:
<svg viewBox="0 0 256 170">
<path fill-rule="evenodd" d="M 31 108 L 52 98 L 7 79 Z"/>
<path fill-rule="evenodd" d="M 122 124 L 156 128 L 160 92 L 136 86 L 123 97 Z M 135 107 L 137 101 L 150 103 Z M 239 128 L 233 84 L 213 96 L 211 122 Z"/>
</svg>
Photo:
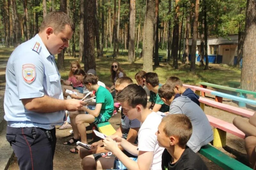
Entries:
<svg viewBox="0 0 256 170">
<path fill-rule="evenodd" d="M 120 90 L 123 90 L 126 86 L 132 83 L 133 83 L 132 79 L 129 77 L 121 77 L 117 79 L 115 83 L 116 93 L 118 93 L 118 91 Z M 138 135 L 139 129 L 140 129 L 140 121 L 138 119 L 133 119 L 133 120 L 128 119 L 128 117 L 126 117 L 123 114 L 123 109 L 121 109 L 120 127 L 116 130 L 116 133 L 114 133 L 113 135 L 120 136 L 126 139 L 128 142 L 137 144 L 138 143 L 137 135 Z M 90 150 L 84 149 L 84 148 L 81 148 L 79 150 L 80 158 L 82 159 L 81 165 L 84 170 L 94 169 L 96 161 L 101 157 L 104 157 L 106 155 L 115 157 L 115 155 L 112 154 L 112 152 L 109 152 L 106 149 L 104 149 L 102 140 L 92 143 L 91 147 L 92 149 Z M 119 148 L 128 157 L 135 157 L 135 158 L 137 157 L 125 151 L 120 145 L 119 145 Z"/>
</svg>

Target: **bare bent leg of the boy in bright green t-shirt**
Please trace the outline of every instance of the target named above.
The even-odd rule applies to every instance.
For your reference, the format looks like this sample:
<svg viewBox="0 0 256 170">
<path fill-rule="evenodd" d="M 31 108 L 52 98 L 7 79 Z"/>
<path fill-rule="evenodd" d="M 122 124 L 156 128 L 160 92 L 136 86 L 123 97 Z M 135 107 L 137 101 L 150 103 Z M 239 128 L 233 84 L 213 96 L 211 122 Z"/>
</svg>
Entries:
<svg viewBox="0 0 256 170">
<path fill-rule="evenodd" d="M 95 117 L 90 114 L 80 114 L 76 116 L 76 126 L 81 137 L 81 142 L 87 144 L 86 128 L 84 123 L 92 123 Z"/>
</svg>

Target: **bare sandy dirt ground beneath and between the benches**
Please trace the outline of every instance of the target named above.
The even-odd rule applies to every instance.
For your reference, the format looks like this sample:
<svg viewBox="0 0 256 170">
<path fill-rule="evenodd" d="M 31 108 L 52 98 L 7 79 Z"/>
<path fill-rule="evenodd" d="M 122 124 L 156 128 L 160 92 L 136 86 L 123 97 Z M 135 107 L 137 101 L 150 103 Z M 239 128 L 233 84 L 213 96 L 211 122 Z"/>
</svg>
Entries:
<svg viewBox="0 0 256 170">
<path fill-rule="evenodd" d="M 209 99 L 213 100 L 213 96 L 208 96 Z M 236 103 L 233 103 L 230 100 L 224 100 L 223 103 L 237 106 Z M 244 108 L 247 110 L 256 110 L 255 108 L 251 106 L 247 106 L 248 108 Z M 232 123 L 232 120 L 236 117 L 236 115 L 218 110 L 212 107 L 205 107 L 205 113 L 209 114 L 214 117 L 218 117 L 221 120 L 225 120 L 229 123 Z M 119 127 L 120 124 L 120 118 L 121 115 L 118 112 L 115 116 L 111 117 L 109 122 L 113 125 L 115 129 Z M 247 118 L 245 118 L 247 119 Z M 86 126 L 89 127 L 89 124 L 85 124 Z M 59 126 L 58 126 L 59 127 Z M 57 128 L 58 128 L 57 127 Z M 71 129 L 66 129 L 66 130 L 59 130 L 57 129 L 56 131 L 56 136 L 57 136 L 57 145 L 56 145 L 56 151 L 54 155 L 54 169 L 56 170 L 62 170 L 62 169 L 81 169 L 81 159 L 78 154 L 73 154 L 69 152 L 69 149 L 73 148 L 73 146 L 68 146 L 68 145 L 62 145 L 63 142 L 67 141 L 69 138 L 72 137 L 72 135 L 69 133 Z M 88 142 L 92 143 L 92 131 L 87 131 L 87 136 L 88 136 Z M 218 148 L 222 152 L 228 154 L 229 156 L 243 162 L 244 164 L 248 165 L 247 159 L 246 159 L 246 152 L 244 149 L 244 140 L 241 138 L 238 138 L 234 135 L 228 134 L 227 133 L 227 146 L 225 148 Z M 204 160 L 206 163 L 207 167 L 209 169 L 222 169 L 212 161 L 208 160 L 204 156 L 200 155 L 201 158 Z M 17 159 L 14 156 L 11 160 L 9 170 L 18 170 L 18 163 Z"/>
</svg>

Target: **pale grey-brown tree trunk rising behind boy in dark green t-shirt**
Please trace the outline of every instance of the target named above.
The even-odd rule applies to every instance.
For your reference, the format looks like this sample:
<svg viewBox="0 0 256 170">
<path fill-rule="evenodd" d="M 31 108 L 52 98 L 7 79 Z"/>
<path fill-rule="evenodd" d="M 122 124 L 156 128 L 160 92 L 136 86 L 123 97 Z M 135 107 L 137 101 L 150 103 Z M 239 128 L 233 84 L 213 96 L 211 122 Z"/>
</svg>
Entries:
<svg viewBox="0 0 256 170">
<path fill-rule="evenodd" d="M 143 41 L 143 70 L 146 72 L 153 72 L 152 56 L 154 46 L 154 10 L 155 0 L 147 0 L 147 10 L 145 16 L 145 29 Z"/>
</svg>

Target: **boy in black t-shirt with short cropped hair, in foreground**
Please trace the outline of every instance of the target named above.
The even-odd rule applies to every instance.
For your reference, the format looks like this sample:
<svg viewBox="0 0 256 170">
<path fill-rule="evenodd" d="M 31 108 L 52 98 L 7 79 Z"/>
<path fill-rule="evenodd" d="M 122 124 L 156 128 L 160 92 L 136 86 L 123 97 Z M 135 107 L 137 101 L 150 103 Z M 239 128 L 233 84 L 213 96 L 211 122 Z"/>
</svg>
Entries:
<svg viewBox="0 0 256 170">
<path fill-rule="evenodd" d="M 204 161 L 186 146 L 192 134 L 192 124 L 183 114 L 165 116 L 156 132 L 159 146 L 164 147 L 162 154 L 163 170 L 208 169 Z"/>
</svg>

